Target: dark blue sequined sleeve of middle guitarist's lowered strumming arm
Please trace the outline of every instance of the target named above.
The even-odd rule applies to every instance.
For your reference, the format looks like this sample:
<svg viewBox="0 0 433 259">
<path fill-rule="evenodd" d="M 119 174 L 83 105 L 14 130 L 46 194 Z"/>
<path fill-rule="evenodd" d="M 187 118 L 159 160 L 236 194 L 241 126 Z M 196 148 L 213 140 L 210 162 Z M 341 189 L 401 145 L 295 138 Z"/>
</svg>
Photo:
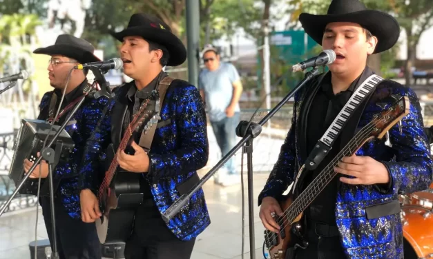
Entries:
<svg viewBox="0 0 433 259">
<path fill-rule="evenodd" d="M 104 108 L 109 104 L 108 99 L 101 97 L 97 100 L 92 100 L 90 105 L 86 105 L 83 111 L 84 114 L 84 132 L 90 134 L 84 147 L 83 158 L 79 164 L 79 183 L 78 191 L 81 189 L 91 189 L 95 191 L 95 185 L 101 167 L 100 157 L 105 152 L 105 149 L 110 141 L 110 106 L 107 108 L 104 118 L 102 118 L 99 127 L 97 123 L 101 118 Z"/>
</svg>

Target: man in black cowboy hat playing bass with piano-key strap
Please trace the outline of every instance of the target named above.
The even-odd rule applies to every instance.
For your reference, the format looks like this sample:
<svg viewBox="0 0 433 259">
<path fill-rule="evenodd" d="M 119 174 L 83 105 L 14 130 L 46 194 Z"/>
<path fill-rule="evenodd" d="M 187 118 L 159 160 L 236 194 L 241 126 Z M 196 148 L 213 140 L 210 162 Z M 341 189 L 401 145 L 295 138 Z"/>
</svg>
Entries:
<svg viewBox="0 0 433 259">
<path fill-rule="evenodd" d="M 328 138 L 328 127 L 338 129 L 330 126 L 335 118 L 343 118 L 339 113 L 345 104 L 357 97 L 361 101 L 352 116 L 342 120 L 347 122 L 328 154 L 316 169 L 302 172 L 296 180 L 302 191 L 316 177 L 320 183 L 320 172 L 338 173 L 304 211 L 300 222 L 309 244 L 305 249 L 289 249 L 287 254 L 309 259 L 403 258 L 398 192 L 427 189 L 433 163 L 416 94 L 394 81 L 381 81 L 366 65 L 370 54 L 392 48 L 399 25 L 388 14 L 367 10 L 358 0 L 334 0 L 326 15 L 300 14 L 300 22 L 323 50 L 334 50 L 336 60 L 328 65 L 329 72 L 296 93 L 291 130 L 259 196 L 262 223 L 278 232 L 281 227 L 272 214 L 282 216 L 278 203 L 282 193 L 298 178 L 298 170 L 318 140 Z M 364 82 L 374 87 L 368 87 L 365 99 L 359 99 L 358 90 L 367 89 Z M 337 167 L 327 168 L 357 130 L 395 103 L 393 96 L 410 100 L 410 112 L 401 127 L 394 125 L 387 138 L 365 143 Z"/>
</svg>

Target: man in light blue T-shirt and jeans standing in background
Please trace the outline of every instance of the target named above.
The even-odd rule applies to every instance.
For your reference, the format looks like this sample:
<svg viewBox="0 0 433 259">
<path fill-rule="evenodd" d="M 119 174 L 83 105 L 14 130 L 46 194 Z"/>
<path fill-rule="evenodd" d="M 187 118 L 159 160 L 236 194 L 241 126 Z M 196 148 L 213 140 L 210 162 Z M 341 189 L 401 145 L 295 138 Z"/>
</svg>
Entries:
<svg viewBox="0 0 433 259">
<path fill-rule="evenodd" d="M 202 53 L 206 68 L 199 75 L 200 94 L 221 154 L 225 156 L 236 145 L 242 83 L 238 70 L 231 63 L 220 62 L 216 48 L 206 45 Z M 222 186 L 240 183 L 234 156 L 215 174 L 215 183 Z"/>
</svg>

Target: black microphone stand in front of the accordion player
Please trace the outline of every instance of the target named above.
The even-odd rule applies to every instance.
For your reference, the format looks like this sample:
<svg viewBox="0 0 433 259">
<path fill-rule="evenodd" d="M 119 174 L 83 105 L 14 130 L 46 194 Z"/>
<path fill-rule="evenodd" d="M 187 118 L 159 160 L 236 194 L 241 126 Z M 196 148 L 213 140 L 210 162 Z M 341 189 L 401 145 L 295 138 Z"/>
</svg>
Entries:
<svg viewBox="0 0 433 259">
<path fill-rule="evenodd" d="M 95 72 L 95 71 L 93 71 L 93 72 L 95 74 L 99 74 L 100 76 L 102 76 L 101 72 Z M 102 76 L 102 79 L 104 79 L 104 76 Z M 108 83 L 104 79 L 102 85 L 106 86 L 107 84 Z M 84 96 L 86 96 L 86 95 L 98 96 L 98 97 L 99 96 L 110 96 L 111 91 L 110 91 L 109 87 L 108 87 L 108 90 L 105 88 L 102 88 L 101 90 L 96 91 L 90 85 L 87 85 L 86 87 L 84 87 L 84 93 L 83 94 L 84 94 Z M 15 191 L 12 193 L 12 195 L 8 198 L 6 203 L 4 203 L 0 209 L 0 216 L 1 216 L 1 215 L 3 215 L 4 211 L 6 211 L 6 208 L 8 207 L 8 205 L 12 202 L 12 199 L 15 198 L 15 196 L 18 194 L 19 190 L 23 187 L 24 183 L 29 178 L 30 174 L 32 174 L 32 172 L 35 171 L 35 168 L 37 167 L 37 165 L 39 163 L 41 163 L 41 160 L 42 159 L 47 160 L 48 161 L 48 179 L 49 179 L 49 188 L 50 188 L 51 225 L 52 225 L 52 256 L 51 256 L 52 259 L 59 259 L 59 251 L 57 249 L 57 236 L 56 236 L 57 231 L 56 231 L 56 218 L 55 218 L 55 205 L 54 205 L 54 188 L 52 186 L 52 183 L 53 183 L 52 182 L 52 170 L 53 170 L 52 165 L 57 164 L 55 161 L 55 157 L 56 157 L 55 152 L 61 152 L 61 143 L 57 142 L 56 151 L 54 149 L 52 149 L 51 146 L 53 143 L 55 143 L 55 141 L 57 141 L 57 138 L 59 137 L 61 132 L 64 130 L 64 128 L 66 127 L 66 125 L 68 124 L 70 119 L 75 115 L 75 113 L 77 112 L 79 107 L 81 107 L 81 105 L 84 103 L 85 100 L 86 100 L 86 98 L 83 98 L 77 103 L 77 105 L 75 105 L 73 110 L 66 117 L 64 123 L 60 126 L 59 130 L 52 137 L 52 139 L 50 140 L 50 142 L 48 143 L 46 148 L 44 148 L 41 151 L 41 156 L 39 156 L 37 158 L 37 160 L 35 161 L 35 163 L 33 163 L 32 167 L 30 167 L 26 176 L 24 176 L 24 178 L 21 180 L 21 183 L 19 183 L 19 186 L 15 189 Z"/>
</svg>

